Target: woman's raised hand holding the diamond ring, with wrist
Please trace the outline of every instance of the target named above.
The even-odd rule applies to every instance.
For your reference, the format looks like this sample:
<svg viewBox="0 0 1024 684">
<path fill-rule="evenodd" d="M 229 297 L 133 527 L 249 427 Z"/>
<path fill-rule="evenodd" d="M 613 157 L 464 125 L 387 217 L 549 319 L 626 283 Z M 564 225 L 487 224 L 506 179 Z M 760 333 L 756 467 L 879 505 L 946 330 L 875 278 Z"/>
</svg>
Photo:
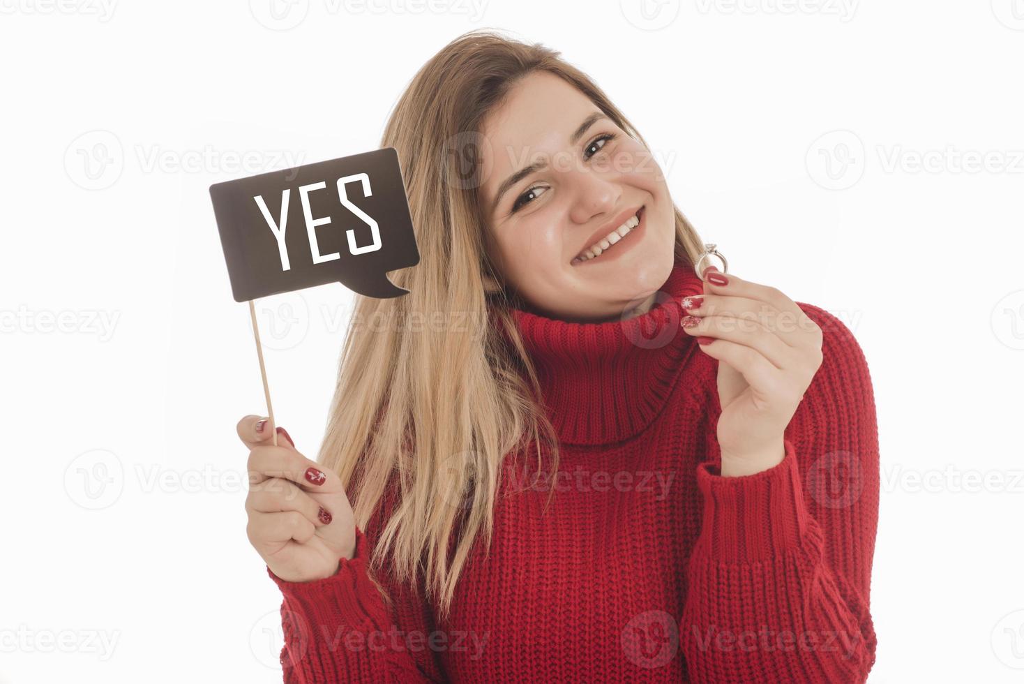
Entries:
<svg viewBox="0 0 1024 684">
<path fill-rule="evenodd" d="M 714 266 L 703 275 L 705 294 L 683 299 L 681 325 L 720 361 L 721 474 L 750 475 L 785 455 L 783 431 L 821 367 L 821 329 L 775 288 Z"/>
</svg>

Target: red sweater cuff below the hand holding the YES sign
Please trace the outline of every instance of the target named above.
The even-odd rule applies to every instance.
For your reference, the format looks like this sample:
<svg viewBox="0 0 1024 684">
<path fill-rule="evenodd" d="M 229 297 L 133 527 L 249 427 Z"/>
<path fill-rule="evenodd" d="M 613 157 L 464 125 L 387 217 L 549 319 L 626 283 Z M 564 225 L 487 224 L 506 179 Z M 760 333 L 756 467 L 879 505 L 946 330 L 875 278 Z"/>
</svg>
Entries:
<svg viewBox="0 0 1024 684">
<path fill-rule="evenodd" d="M 380 592 L 367 571 L 370 548 L 366 536 L 355 528 L 355 554 L 340 558 L 338 571 L 330 578 L 310 582 L 287 582 L 267 567 L 285 597 L 285 607 L 300 615 L 313 637 L 330 639 L 341 626 L 356 628 L 374 625 L 383 608 Z"/>
</svg>

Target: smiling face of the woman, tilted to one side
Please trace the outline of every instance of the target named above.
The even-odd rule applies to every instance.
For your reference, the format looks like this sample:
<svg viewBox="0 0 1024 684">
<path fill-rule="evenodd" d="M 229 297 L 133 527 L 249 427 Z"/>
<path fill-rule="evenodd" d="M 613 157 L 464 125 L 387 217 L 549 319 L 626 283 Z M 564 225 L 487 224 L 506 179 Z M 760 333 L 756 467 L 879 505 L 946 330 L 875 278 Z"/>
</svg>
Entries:
<svg viewBox="0 0 1024 684">
<path fill-rule="evenodd" d="M 564 320 L 649 310 L 675 244 L 672 200 L 649 151 L 547 72 L 516 83 L 481 133 L 480 206 L 508 284 Z"/>
</svg>

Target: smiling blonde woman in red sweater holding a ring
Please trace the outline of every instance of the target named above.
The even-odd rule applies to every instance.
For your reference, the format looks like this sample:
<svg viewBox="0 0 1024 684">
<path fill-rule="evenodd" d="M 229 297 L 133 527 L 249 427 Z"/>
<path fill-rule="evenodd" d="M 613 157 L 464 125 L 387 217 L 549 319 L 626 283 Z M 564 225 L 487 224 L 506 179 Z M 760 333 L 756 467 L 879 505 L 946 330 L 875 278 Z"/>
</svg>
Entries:
<svg viewBox="0 0 1024 684">
<path fill-rule="evenodd" d="M 316 462 L 238 428 L 285 681 L 863 681 L 879 454 L 850 331 L 698 274 L 646 143 L 542 46 L 455 40 L 382 146 L 410 294 L 356 297 Z"/>
</svg>

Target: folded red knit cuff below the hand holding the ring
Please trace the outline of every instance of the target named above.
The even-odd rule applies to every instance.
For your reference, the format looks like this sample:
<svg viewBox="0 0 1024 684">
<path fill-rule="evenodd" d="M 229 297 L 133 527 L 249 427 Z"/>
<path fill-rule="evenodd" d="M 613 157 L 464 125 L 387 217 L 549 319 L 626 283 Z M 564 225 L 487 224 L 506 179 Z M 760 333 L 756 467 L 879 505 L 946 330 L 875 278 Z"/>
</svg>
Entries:
<svg viewBox="0 0 1024 684">
<path fill-rule="evenodd" d="M 697 466 L 703 517 L 697 546 L 713 560 L 765 560 L 799 546 L 807 528 L 793 442 L 777 465 L 752 475 L 723 477 L 717 463 Z"/>
</svg>

